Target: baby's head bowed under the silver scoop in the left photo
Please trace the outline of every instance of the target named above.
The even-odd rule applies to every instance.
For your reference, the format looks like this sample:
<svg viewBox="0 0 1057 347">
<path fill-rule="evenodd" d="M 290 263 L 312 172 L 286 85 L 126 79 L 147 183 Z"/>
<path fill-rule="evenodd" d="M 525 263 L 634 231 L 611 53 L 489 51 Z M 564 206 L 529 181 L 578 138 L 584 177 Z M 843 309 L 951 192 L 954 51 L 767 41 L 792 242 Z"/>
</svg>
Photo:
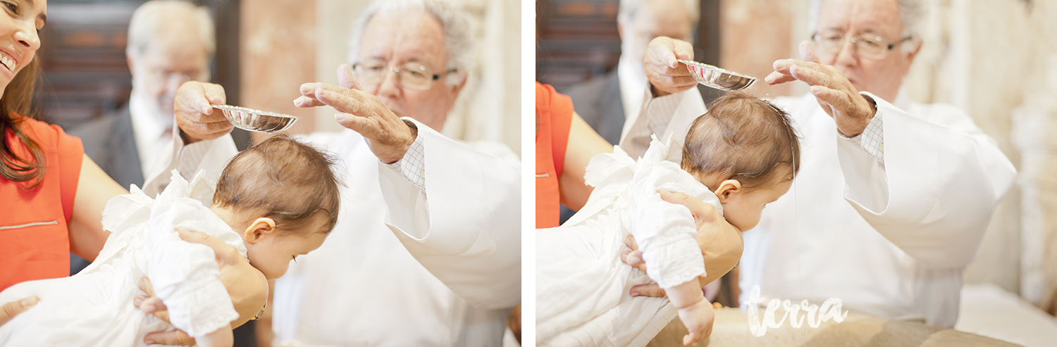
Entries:
<svg viewBox="0 0 1057 347">
<path fill-rule="evenodd" d="M 249 264 L 267 279 L 290 261 L 319 248 L 337 223 L 338 181 L 332 156 L 276 136 L 235 156 L 212 197 L 246 245 Z"/>
</svg>

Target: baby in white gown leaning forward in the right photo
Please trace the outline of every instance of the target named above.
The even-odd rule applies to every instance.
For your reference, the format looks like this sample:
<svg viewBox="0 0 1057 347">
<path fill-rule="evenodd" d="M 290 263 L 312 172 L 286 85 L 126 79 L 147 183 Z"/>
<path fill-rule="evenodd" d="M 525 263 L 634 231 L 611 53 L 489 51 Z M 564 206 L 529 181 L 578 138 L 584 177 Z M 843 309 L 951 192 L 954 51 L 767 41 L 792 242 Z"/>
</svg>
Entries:
<svg viewBox="0 0 1057 347">
<path fill-rule="evenodd" d="M 690 126 L 681 165 L 666 160 L 678 158 L 672 142 L 654 137 L 637 161 L 619 147 L 592 158 L 587 205 L 561 227 L 537 231 L 539 346 L 645 346 L 674 317 L 671 307 L 689 330 L 684 344 L 708 336 L 713 311 L 698 282 L 705 268 L 693 216 L 659 190 L 696 196 L 738 230 L 752 229 L 792 186 L 799 139 L 785 112 L 730 93 Z M 648 277 L 619 261 L 629 233 Z M 666 289 L 667 301 L 629 294 L 650 282 Z"/>
</svg>

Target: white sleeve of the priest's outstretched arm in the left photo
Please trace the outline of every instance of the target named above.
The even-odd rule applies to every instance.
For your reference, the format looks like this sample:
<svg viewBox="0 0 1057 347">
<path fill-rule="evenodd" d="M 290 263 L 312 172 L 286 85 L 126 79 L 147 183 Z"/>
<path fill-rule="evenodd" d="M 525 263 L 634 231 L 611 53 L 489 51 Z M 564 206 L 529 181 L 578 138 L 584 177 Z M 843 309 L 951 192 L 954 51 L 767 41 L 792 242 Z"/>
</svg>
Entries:
<svg viewBox="0 0 1057 347">
<path fill-rule="evenodd" d="M 518 168 L 415 123 L 425 152 L 425 189 L 378 161 L 386 225 L 423 267 L 475 307 L 518 305 Z"/>
</svg>

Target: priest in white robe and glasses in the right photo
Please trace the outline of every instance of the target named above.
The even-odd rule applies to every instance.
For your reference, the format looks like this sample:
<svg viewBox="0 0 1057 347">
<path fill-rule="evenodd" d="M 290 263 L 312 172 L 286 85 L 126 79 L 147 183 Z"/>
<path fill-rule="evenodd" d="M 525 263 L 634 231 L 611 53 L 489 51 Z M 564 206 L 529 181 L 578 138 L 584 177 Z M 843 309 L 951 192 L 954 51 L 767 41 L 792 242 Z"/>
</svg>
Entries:
<svg viewBox="0 0 1057 347">
<path fill-rule="evenodd" d="M 762 297 L 839 297 L 869 314 L 954 325 L 962 273 L 1016 170 L 965 112 L 912 102 L 902 89 L 923 43 L 922 6 L 814 1 L 803 59 L 775 61 L 767 83 L 811 85 L 775 100 L 803 138 L 803 168 L 744 234 L 743 302 L 759 286 Z M 673 107 L 697 93 L 687 92 L 696 82 L 676 57 L 692 58 L 690 44 L 651 42 L 643 112 L 671 118 L 632 139 L 678 130 L 703 112 Z M 655 285 L 632 291 L 663 294 Z"/>
</svg>

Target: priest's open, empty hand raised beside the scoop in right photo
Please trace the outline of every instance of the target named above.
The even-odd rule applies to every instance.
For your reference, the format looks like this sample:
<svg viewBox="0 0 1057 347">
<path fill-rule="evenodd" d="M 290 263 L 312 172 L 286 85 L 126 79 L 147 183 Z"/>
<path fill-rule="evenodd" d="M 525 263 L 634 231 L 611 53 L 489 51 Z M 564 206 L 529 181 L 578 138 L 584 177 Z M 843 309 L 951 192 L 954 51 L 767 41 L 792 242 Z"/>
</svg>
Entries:
<svg viewBox="0 0 1057 347">
<path fill-rule="evenodd" d="M 800 58 L 775 60 L 775 72 L 764 78 L 775 85 L 801 80 L 811 85 L 818 105 L 837 122 L 837 130 L 848 137 L 858 136 L 877 113 L 876 103 L 858 94 L 852 82 L 833 65 L 819 63 L 809 41 L 800 42 Z"/>
</svg>

